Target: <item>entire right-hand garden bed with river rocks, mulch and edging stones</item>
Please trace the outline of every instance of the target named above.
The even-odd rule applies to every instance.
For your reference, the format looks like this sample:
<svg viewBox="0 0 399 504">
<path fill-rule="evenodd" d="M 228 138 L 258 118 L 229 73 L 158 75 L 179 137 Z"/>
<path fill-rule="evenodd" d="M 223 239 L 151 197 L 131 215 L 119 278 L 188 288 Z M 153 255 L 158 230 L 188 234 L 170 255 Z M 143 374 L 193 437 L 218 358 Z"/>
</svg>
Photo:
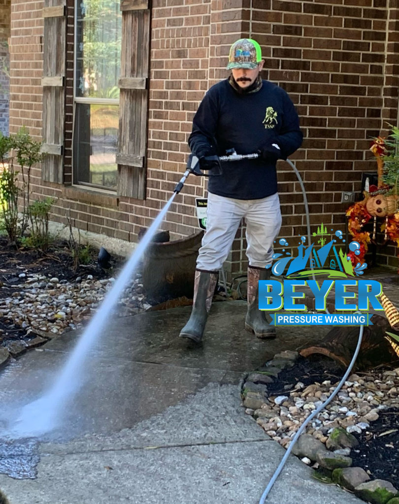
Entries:
<svg viewBox="0 0 399 504">
<path fill-rule="evenodd" d="M 283 351 L 243 382 L 246 413 L 282 445 L 335 390 L 345 369 Z M 399 368 L 353 373 L 313 418 L 292 453 L 315 477 L 368 502 L 399 502 Z"/>
</svg>

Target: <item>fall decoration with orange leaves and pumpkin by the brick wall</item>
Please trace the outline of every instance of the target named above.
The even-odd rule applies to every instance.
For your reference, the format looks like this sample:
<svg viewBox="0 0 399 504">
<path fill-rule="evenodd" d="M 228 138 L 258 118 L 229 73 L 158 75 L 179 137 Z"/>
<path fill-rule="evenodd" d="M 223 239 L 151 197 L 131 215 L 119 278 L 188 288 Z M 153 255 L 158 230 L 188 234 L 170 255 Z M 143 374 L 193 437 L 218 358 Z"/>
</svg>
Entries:
<svg viewBox="0 0 399 504">
<path fill-rule="evenodd" d="M 364 200 L 351 205 L 346 214 L 352 241 L 360 244 L 357 254 L 352 251 L 348 254 L 354 266 L 364 263 L 368 244 L 375 243 L 377 218 L 384 218 L 380 225 L 384 233 L 383 244 L 392 241 L 399 247 L 399 152 L 396 152 L 399 128 L 389 126 L 391 134 L 388 140 L 376 137 L 370 148 L 377 161 L 378 186 L 366 186 Z M 372 233 L 363 229 L 370 219 L 373 219 Z M 399 253 L 397 256 L 399 258 Z"/>
</svg>

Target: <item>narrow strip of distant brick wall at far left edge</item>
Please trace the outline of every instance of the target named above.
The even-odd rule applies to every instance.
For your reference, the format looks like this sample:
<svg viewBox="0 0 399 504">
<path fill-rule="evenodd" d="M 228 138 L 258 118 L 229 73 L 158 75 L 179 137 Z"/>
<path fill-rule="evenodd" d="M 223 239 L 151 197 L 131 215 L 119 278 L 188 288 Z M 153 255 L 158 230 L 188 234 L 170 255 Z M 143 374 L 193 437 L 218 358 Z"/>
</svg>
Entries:
<svg viewBox="0 0 399 504">
<path fill-rule="evenodd" d="M 9 133 L 9 91 L 10 91 L 10 0 L 0 0 L 0 132 Z"/>
</svg>

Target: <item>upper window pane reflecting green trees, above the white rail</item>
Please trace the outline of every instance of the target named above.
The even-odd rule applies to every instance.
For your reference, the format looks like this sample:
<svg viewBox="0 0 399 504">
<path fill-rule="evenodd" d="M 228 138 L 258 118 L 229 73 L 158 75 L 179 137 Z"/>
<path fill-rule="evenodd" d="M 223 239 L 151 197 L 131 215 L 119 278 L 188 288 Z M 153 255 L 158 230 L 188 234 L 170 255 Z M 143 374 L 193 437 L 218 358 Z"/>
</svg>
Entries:
<svg viewBox="0 0 399 504">
<path fill-rule="evenodd" d="M 121 22 L 119 0 L 78 0 L 75 96 L 119 97 Z"/>
</svg>

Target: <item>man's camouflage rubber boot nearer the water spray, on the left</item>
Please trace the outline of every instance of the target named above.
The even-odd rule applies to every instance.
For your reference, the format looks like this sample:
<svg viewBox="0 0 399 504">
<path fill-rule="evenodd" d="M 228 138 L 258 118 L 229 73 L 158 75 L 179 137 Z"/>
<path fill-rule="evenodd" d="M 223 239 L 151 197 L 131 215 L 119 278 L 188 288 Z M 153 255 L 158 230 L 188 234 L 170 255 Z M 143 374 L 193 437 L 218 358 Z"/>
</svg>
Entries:
<svg viewBox="0 0 399 504">
<path fill-rule="evenodd" d="M 193 309 L 189 321 L 180 333 L 181 338 L 189 338 L 196 343 L 201 341 L 216 287 L 217 276 L 217 271 L 196 270 Z"/>
</svg>

